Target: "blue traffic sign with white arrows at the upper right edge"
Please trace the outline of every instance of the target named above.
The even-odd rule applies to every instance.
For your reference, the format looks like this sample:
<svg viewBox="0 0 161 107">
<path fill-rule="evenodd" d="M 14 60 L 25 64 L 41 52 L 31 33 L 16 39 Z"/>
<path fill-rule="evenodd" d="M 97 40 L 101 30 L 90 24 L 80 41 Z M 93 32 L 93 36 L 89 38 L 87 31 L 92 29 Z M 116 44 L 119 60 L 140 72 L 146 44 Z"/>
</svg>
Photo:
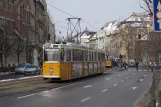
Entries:
<svg viewBox="0 0 161 107">
<path fill-rule="evenodd" d="M 153 0 L 154 31 L 161 32 L 161 0 Z"/>
</svg>

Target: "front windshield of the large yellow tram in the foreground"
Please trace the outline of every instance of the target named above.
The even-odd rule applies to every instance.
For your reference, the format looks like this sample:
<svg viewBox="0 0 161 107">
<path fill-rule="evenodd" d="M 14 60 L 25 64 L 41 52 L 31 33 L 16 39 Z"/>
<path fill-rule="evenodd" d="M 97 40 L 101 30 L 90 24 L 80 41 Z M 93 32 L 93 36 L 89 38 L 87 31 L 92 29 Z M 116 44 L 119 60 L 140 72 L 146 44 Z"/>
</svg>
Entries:
<svg viewBox="0 0 161 107">
<path fill-rule="evenodd" d="M 59 49 L 45 49 L 44 61 L 60 61 Z"/>
</svg>

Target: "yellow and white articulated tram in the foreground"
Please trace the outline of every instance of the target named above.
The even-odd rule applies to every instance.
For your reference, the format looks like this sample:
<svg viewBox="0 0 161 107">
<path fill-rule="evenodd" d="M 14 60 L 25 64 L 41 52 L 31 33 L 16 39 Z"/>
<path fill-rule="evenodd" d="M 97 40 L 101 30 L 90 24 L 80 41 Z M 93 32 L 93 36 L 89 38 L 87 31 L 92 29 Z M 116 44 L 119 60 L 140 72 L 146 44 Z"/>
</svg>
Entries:
<svg viewBox="0 0 161 107">
<path fill-rule="evenodd" d="M 105 52 L 80 44 L 43 45 L 44 80 L 72 80 L 105 71 Z"/>
</svg>

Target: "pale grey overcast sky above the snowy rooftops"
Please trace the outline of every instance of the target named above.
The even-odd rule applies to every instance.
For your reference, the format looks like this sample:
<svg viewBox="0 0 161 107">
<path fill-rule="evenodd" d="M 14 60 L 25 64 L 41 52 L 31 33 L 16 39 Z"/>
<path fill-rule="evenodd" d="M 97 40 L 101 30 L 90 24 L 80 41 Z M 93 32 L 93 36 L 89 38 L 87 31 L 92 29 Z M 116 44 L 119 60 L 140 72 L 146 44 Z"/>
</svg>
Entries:
<svg viewBox="0 0 161 107">
<path fill-rule="evenodd" d="M 139 0 L 46 0 L 51 4 L 73 16 L 80 17 L 92 26 L 81 22 L 82 30 L 85 27 L 97 31 L 106 22 L 112 20 L 124 20 L 133 12 L 140 13 L 143 10 L 139 6 Z M 48 5 L 50 14 L 53 16 L 56 24 L 56 30 L 61 30 L 63 36 L 66 36 L 67 21 L 71 17 Z M 66 28 L 65 28 L 66 27 Z M 58 31 L 57 31 L 58 32 Z M 57 33 L 58 35 L 58 33 Z"/>
</svg>

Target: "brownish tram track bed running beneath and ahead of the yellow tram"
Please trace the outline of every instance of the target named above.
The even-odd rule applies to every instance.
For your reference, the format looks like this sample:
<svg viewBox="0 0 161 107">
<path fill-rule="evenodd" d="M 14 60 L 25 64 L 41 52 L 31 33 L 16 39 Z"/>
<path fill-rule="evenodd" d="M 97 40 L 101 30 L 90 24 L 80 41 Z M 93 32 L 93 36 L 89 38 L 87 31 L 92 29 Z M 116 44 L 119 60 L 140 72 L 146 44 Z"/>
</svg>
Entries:
<svg viewBox="0 0 161 107">
<path fill-rule="evenodd" d="M 61 87 L 64 85 L 69 85 L 75 82 L 84 81 L 86 79 L 99 78 L 105 75 L 109 75 L 109 73 L 82 78 L 79 80 L 66 81 L 66 82 L 51 82 L 51 83 L 45 82 L 42 76 L 25 77 L 25 78 L 13 79 L 11 81 L 1 81 L 0 97 L 15 95 L 19 93 L 22 94 L 36 93 L 48 89 Z"/>
</svg>

